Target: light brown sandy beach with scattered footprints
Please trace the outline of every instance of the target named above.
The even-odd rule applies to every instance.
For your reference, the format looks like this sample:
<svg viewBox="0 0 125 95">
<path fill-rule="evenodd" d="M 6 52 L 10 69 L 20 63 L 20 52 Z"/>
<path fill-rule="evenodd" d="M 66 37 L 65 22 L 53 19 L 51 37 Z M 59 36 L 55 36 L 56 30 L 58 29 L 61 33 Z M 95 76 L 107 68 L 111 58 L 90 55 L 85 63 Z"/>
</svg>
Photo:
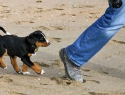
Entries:
<svg viewBox="0 0 125 95">
<path fill-rule="evenodd" d="M 107 1 L 0 0 L 0 26 L 20 37 L 41 30 L 51 41 L 31 57 L 43 75 L 30 68 L 30 75 L 17 74 L 4 57 L 8 69 L 0 68 L 0 95 L 125 95 L 125 27 L 82 67 L 84 83 L 66 78 L 58 55 L 105 12 Z"/>
</svg>

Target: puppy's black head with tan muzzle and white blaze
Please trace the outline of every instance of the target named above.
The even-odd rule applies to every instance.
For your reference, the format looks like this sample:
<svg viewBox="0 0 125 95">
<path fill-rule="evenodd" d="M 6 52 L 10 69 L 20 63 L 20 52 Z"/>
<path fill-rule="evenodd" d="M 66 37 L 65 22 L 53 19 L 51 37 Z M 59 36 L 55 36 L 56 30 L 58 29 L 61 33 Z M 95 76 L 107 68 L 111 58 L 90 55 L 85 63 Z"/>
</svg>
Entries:
<svg viewBox="0 0 125 95">
<path fill-rule="evenodd" d="M 48 45 L 50 45 L 49 40 L 46 39 L 46 36 L 40 30 L 31 33 L 27 37 L 27 40 L 29 43 L 31 43 L 32 45 L 36 45 L 37 47 L 47 47 Z"/>
</svg>

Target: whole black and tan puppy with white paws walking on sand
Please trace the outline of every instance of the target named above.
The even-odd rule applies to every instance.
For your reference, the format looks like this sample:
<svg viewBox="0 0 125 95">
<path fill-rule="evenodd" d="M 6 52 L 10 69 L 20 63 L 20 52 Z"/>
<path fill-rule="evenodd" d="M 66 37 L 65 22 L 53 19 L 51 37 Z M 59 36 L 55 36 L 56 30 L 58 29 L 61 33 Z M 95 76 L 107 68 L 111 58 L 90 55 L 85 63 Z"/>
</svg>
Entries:
<svg viewBox="0 0 125 95">
<path fill-rule="evenodd" d="M 36 52 L 38 47 L 47 47 L 50 43 L 46 36 L 41 31 L 35 31 L 26 37 L 18 37 L 10 35 L 3 27 L 0 27 L 7 35 L 0 35 L 0 66 L 6 69 L 2 58 L 7 53 L 10 56 L 11 64 L 17 73 L 29 74 L 28 67 L 33 69 L 37 74 L 43 74 L 44 70 L 31 62 L 30 56 Z M 23 62 L 23 69 L 17 65 L 16 58 L 21 58 Z"/>
</svg>

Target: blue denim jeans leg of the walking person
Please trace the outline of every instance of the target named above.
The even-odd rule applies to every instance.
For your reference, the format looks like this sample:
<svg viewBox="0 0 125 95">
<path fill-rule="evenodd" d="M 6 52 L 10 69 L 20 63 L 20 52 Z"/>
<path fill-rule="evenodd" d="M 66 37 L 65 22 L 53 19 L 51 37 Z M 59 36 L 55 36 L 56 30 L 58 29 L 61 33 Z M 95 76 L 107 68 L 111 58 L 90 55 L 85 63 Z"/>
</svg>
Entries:
<svg viewBox="0 0 125 95">
<path fill-rule="evenodd" d="M 91 59 L 124 25 L 125 0 L 120 8 L 109 5 L 105 13 L 66 47 L 67 56 L 77 66 Z"/>
</svg>

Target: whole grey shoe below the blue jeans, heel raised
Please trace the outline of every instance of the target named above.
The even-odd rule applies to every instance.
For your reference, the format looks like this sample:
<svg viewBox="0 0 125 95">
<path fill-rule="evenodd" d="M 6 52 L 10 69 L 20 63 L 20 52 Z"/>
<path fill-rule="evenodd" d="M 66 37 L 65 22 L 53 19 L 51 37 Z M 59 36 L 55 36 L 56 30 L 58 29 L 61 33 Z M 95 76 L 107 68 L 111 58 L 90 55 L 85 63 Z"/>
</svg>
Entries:
<svg viewBox="0 0 125 95">
<path fill-rule="evenodd" d="M 67 77 L 71 80 L 83 82 L 83 77 L 81 74 L 81 68 L 76 66 L 67 56 L 65 48 L 59 51 L 59 56 L 65 67 L 65 73 Z"/>
</svg>

